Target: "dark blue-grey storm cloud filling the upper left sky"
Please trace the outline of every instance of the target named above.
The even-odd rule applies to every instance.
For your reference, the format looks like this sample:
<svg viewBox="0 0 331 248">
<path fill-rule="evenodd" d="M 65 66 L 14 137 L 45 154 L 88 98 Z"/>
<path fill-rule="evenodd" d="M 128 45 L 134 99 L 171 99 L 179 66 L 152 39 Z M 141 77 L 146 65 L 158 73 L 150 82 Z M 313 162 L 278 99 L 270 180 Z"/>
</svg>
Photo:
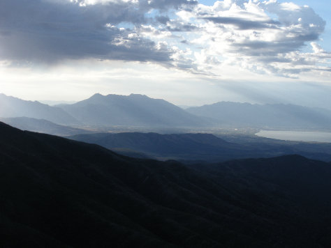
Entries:
<svg viewBox="0 0 331 248">
<path fill-rule="evenodd" d="M 0 59 L 54 63 L 62 59 L 170 61 L 171 52 L 146 38 L 112 25 L 144 24 L 152 8 L 178 7 L 191 1 L 1 0 Z M 112 28 L 110 28 L 112 27 Z"/>
</svg>

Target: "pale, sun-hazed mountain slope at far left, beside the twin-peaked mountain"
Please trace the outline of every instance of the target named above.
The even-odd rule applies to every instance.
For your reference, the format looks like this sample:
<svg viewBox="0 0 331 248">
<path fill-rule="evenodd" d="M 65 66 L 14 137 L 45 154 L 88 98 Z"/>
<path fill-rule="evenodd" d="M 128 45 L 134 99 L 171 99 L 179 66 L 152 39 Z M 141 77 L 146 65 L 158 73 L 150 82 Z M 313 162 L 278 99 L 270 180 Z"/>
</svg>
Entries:
<svg viewBox="0 0 331 248">
<path fill-rule="evenodd" d="M 29 117 L 53 123 L 70 125 L 78 121 L 59 107 L 50 107 L 41 102 L 25 101 L 0 93 L 0 117 Z"/>
</svg>

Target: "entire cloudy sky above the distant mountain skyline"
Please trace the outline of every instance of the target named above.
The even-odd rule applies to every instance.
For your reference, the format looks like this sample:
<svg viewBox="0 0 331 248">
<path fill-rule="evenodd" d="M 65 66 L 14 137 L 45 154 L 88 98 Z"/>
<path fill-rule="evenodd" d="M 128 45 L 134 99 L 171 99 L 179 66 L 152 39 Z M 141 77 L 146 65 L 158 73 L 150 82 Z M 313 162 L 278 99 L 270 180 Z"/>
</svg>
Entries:
<svg viewBox="0 0 331 248">
<path fill-rule="evenodd" d="M 0 93 L 331 109 L 326 0 L 0 0 Z"/>
</svg>

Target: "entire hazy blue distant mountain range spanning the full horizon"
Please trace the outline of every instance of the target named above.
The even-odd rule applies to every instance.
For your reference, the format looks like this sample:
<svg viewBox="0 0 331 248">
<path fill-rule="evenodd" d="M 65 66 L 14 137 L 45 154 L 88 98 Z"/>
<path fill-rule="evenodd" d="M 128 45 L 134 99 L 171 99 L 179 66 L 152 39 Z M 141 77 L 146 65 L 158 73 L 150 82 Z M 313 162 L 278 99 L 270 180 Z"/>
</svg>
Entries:
<svg viewBox="0 0 331 248">
<path fill-rule="evenodd" d="M 29 117 L 60 125 L 94 127 L 205 128 L 253 127 L 330 130 L 331 111 L 293 104 L 217 102 L 182 109 L 146 95 L 101 95 L 75 104 L 48 106 L 0 94 L 0 117 Z"/>
</svg>

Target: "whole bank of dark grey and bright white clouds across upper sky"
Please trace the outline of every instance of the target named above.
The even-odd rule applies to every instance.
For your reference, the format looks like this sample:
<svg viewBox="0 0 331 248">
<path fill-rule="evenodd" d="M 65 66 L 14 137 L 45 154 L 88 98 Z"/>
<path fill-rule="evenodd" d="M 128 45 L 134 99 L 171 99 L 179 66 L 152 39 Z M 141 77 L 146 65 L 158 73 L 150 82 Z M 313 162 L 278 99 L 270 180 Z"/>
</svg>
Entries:
<svg viewBox="0 0 331 248">
<path fill-rule="evenodd" d="M 213 76 L 232 67 L 297 77 L 329 70 L 330 53 L 318 44 L 324 29 L 313 9 L 277 0 L 1 0 L 0 60 L 149 61 Z"/>
</svg>

